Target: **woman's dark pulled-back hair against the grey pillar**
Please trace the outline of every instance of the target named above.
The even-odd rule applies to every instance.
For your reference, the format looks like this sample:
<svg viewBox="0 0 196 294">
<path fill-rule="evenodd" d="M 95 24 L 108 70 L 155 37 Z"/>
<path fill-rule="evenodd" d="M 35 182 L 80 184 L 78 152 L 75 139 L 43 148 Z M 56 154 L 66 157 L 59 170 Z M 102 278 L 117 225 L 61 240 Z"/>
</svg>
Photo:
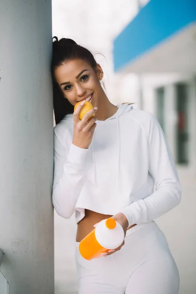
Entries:
<svg viewBox="0 0 196 294">
<path fill-rule="evenodd" d="M 78 45 L 72 39 L 62 38 L 52 43 L 52 61 L 51 74 L 53 84 L 53 107 L 56 124 L 59 123 L 65 115 L 73 113 L 73 105 L 63 96 L 63 93 L 54 78 L 54 70 L 63 62 L 71 59 L 82 59 L 87 61 L 91 67 L 96 70 L 97 62 L 93 54 L 86 48 Z"/>
</svg>

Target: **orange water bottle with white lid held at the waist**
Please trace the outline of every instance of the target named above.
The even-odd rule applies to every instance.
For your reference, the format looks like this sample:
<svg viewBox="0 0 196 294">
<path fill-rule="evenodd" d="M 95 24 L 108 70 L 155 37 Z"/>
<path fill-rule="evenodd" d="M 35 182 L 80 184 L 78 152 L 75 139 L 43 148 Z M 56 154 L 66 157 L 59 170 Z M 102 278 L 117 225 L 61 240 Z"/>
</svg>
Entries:
<svg viewBox="0 0 196 294">
<path fill-rule="evenodd" d="M 91 260 L 101 253 L 116 249 L 124 241 L 123 227 L 114 219 L 100 221 L 79 244 L 79 252 L 83 258 Z"/>
</svg>

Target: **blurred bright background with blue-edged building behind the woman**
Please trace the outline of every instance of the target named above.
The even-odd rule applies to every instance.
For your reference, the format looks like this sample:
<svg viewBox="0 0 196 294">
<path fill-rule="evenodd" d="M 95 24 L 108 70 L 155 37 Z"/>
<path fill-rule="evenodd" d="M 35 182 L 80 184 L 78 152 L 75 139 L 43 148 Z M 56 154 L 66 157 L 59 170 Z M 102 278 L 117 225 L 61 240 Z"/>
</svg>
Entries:
<svg viewBox="0 0 196 294">
<path fill-rule="evenodd" d="M 53 0 L 52 35 L 92 51 L 112 103 L 134 102 L 158 118 L 183 193 L 157 223 L 180 272 L 180 294 L 195 294 L 196 1 Z M 74 216 L 55 213 L 54 226 L 55 294 L 76 294 Z"/>
</svg>

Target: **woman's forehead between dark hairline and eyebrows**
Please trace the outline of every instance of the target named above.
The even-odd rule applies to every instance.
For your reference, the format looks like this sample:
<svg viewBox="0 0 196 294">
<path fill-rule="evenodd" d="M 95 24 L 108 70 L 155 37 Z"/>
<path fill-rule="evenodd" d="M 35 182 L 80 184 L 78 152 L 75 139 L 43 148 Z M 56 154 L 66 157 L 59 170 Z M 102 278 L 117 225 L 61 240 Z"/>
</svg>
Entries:
<svg viewBox="0 0 196 294">
<path fill-rule="evenodd" d="M 64 62 L 54 70 L 54 75 L 58 83 L 75 79 L 76 75 L 83 70 L 92 70 L 88 62 L 81 59 L 73 59 Z"/>
</svg>

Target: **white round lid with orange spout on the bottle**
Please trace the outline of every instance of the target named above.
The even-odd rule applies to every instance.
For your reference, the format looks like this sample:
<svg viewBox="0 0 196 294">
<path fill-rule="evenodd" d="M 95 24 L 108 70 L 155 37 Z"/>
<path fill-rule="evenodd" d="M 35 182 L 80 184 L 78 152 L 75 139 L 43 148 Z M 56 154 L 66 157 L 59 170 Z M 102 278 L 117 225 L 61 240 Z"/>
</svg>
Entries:
<svg viewBox="0 0 196 294">
<path fill-rule="evenodd" d="M 124 241 L 124 231 L 118 221 L 107 219 L 100 221 L 95 229 L 98 243 L 106 249 L 116 249 Z"/>
</svg>

